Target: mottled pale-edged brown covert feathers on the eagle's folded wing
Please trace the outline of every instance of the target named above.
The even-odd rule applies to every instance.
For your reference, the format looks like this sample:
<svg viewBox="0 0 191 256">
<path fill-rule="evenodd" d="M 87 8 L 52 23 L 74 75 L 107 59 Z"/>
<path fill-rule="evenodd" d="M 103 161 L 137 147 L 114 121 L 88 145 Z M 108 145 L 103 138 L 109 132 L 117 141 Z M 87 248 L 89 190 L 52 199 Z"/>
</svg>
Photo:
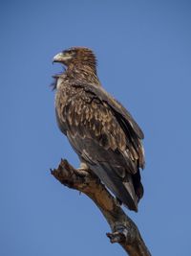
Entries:
<svg viewBox="0 0 191 256">
<path fill-rule="evenodd" d="M 137 173 L 138 158 L 141 159 L 138 136 L 134 134 L 135 138 L 131 138 L 132 134 L 120 125 L 110 105 L 82 88 L 70 98 L 64 111 L 72 137 L 93 139 L 106 151 L 120 152 L 129 166 L 128 172 Z"/>
</svg>

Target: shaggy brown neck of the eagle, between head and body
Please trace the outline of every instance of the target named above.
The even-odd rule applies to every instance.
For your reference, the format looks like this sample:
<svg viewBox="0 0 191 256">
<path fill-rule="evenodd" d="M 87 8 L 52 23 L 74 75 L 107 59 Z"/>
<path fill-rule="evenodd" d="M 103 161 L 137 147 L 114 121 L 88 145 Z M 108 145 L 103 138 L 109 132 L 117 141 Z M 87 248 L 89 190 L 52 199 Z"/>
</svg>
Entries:
<svg viewBox="0 0 191 256">
<path fill-rule="evenodd" d="M 100 82 L 96 76 L 96 67 L 94 65 L 69 65 L 65 74 L 69 79 L 91 82 L 100 85 Z"/>
</svg>

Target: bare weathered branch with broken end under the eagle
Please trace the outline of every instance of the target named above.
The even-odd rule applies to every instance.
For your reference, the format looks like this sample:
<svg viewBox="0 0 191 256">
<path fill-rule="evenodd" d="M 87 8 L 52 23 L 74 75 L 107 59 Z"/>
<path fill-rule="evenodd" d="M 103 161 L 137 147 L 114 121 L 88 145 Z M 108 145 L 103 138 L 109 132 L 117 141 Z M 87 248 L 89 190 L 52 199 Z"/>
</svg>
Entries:
<svg viewBox="0 0 191 256">
<path fill-rule="evenodd" d="M 151 255 L 135 222 L 124 213 L 117 199 L 91 170 L 77 170 L 67 160 L 61 160 L 58 168 L 52 170 L 52 175 L 63 185 L 78 190 L 94 200 L 112 229 L 112 233 L 107 233 L 111 243 L 120 244 L 130 256 Z"/>
</svg>

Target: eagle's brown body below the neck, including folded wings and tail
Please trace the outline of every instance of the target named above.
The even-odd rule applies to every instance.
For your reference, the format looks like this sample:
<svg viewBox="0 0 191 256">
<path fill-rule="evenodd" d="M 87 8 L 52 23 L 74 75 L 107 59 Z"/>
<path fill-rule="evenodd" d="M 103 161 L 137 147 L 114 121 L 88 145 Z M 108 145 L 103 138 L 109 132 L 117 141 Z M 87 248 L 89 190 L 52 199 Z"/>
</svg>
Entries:
<svg viewBox="0 0 191 256">
<path fill-rule="evenodd" d="M 74 151 L 117 198 L 137 211 L 141 183 L 133 176 L 139 176 L 138 166 L 144 163 L 143 133 L 132 116 L 102 88 L 78 81 L 57 93 L 55 104 L 59 128 Z"/>
</svg>

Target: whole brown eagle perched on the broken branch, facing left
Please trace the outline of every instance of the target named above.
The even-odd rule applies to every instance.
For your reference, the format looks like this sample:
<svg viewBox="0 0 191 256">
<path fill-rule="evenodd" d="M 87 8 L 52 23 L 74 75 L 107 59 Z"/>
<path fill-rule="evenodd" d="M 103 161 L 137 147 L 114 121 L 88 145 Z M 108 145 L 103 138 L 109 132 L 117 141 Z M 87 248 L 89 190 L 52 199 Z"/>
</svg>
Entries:
<svg viewBox="0 0 191 256">
<path fill-rule="evenodd" d="M 96 56 L 72 47 L 53 57 L 64 71 L 53 76 L 55 115 L 80 159 L 80 170 L 92 170 L 130 210 L 138 212 L 143 196 L 144 135 L 132 115 L 102 87 Z"/>
</svg>

